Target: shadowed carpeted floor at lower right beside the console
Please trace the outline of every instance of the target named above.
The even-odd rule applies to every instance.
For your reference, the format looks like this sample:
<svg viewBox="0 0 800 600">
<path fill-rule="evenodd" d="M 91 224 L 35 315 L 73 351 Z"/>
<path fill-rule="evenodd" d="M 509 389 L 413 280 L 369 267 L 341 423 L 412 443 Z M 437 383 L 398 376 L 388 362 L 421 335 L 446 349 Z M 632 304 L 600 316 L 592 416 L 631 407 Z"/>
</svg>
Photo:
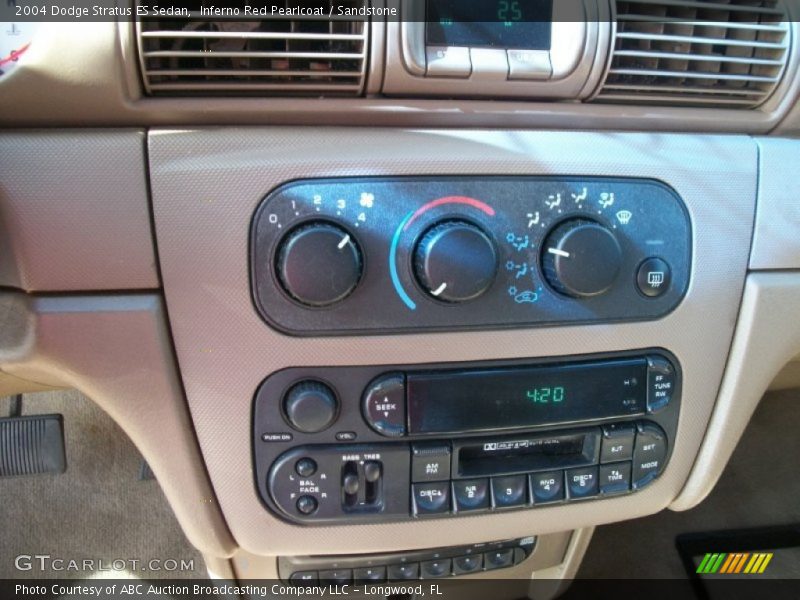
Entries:
<svg viewBox="0 0 800 600">
<path fill-rule="evenodd" d="M 685 512 L 598 527 L 578 578 L 686 578 L 680 534 L 800 523 L 798 456 L 800 390 L 768 393 L 708 498 Z"/>
</svg>

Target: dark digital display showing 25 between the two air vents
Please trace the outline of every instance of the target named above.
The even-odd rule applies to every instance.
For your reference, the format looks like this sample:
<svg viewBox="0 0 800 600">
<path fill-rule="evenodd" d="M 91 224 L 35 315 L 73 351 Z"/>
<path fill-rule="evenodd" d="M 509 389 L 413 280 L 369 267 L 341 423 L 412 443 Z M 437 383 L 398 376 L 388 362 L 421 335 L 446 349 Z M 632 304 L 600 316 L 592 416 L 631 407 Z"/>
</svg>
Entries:
<svg viewBox="0 0 800 600">
<path fill-rule="evenodd" d="M 428 0 L 429 46 L 549 50 L 553 0 Z"/>
</svg>

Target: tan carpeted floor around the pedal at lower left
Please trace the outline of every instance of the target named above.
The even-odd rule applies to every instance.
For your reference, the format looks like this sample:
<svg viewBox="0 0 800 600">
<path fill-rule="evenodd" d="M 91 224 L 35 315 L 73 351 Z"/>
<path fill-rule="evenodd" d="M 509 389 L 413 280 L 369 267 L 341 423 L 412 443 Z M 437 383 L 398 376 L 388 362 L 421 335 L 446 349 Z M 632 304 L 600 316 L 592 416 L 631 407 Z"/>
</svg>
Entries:
<svg viewBox="0 0 800 600">
<path fill-rule="evenodd" d="M 9 407 L 10 399 L 0 399 L 0 416 L 8 415 Z M 96 404 L 75 391 L 26 394 L 22 412 L 64 415 L 67 470 L 0 478 L 0 579 L 207 576 L 202 556 L 186 540 L 158 482 L 139 479 L 139 452 Z M 64 559 L 64 566 L 89 559 L 95 568 L 20 571 L 15 568 L 19 555 L 49 555 Z M 152 559 L 176 560 L 178 569 L 182 560 L 193 561 L 193 568 L 168 572 L 165 567 L 172 563 L 162 562 L 160 571 L 142 571 Z M 98 571 L 101 560 L 106 566 L 114 560 L 140 562 Z"/>
</svg>

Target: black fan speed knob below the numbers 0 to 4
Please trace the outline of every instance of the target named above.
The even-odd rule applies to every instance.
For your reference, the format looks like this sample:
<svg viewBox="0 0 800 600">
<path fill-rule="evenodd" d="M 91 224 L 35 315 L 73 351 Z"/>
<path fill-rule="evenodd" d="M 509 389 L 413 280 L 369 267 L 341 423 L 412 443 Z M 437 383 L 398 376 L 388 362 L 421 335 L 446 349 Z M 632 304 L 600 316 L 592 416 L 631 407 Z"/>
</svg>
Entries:
<svg viewBox="0 0 800 600">
<path fill-rule="evenodd" d="M 307 306 L 330 306 L 358 285 L 361 250 L 338 225 L 315 221 L 286 234 L 275 268 L 283 289 L 292 298 Z"/>
</svg>

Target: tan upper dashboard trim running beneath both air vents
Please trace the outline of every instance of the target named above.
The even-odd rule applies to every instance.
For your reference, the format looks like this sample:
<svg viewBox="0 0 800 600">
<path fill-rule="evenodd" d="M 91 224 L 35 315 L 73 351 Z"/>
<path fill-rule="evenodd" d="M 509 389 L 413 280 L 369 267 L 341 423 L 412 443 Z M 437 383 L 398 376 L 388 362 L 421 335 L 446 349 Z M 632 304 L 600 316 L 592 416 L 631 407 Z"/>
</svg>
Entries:
<svg viewBox="0 0 800 600">
<path fill-rule="evenodd" d="M 607 10 L 604 3 L 599 3 Z M 795 31 L 797 29 L 795 24 Z M 373 28 L 373 33 L 375 29 Z M 796 33 L 794 34 L 796 38 Z M 609 41 L 600 38 L 598 61 Z M 376 46 L 377 47 L 377 46 Z M 69 51 L 65 51 L 68 49 Z M 148 98 L 141 95 L 131 23 L 48 25 L 26 53 L 26 63 L 0 82 L 0 126 L 360 125 L 495 127 L 768 133 L 794 105 L 795 68 L 786 97 L 760 110 L 692 109 L 480 100 L 401 98 Z M 602 55 L 601 55 L 602 53 Z M 376 56 L 371 56 L 374 61 Z M 375 68 L 371 65 L 369 90 Z M 599 75 L 601 71 L 598 69 Z M 599 78 L 598 78 L 599 80 Z M 591 91 L 592 82 L 581 94 Z M 47 90 L 47 93 L 42 93 Z M 800 109 L 785 124 L 800 132 Z M 794 123 L 794 125 L 792 125 Z"/>
</svg>

